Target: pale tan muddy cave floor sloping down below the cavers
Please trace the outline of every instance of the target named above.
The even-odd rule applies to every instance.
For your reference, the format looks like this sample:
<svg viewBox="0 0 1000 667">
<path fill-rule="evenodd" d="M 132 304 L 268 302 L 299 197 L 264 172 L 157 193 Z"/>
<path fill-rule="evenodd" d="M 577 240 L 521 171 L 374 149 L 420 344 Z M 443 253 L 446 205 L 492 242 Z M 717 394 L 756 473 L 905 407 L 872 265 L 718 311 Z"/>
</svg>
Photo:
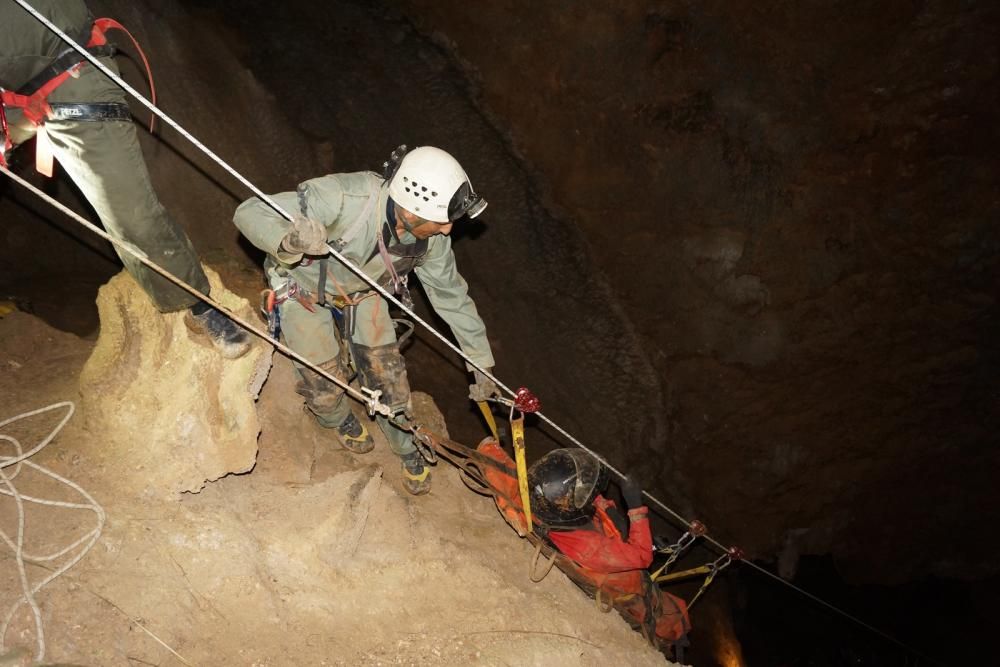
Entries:
<svg viewBox="0 0 1000 667">
<path fill-rule="evenodd" d="M 0 318 L 0 395 L 10 413 L 3 418 L 75 400 L 93 345 L 31 315 Z M 332 447 L 288 400 L 292 385 L 290 364 L 276 356 L 258 401 L 262 435 L 250 474 L 174 501 L 123 491 L 89 466 L 77 445 L 100 434 L 86 430 L 79 411 L 32 459 L 82 486 L 107 513 L 86 557 L 38 594 L 47 661 L 663 664 L 563 577 L 531 583 L 530 547 L 455 469 L 439 466 L 433 492 L 408 497 L 384 441 L 363 457 Z M 425 419 L 444 428 L 433 401 L 417 397 Z M 28 448 L 60 414 L 4 432 Z M 143 445 L 141 433 L 134 443 Z M 15 484 L 22 494 L 77 499 L 27 469 Z M 26 551 L 55 552 L 93 524 L 89 511 L 29 505 Z M 0 504 L 0 527 L 16 535 L 12 502 Z M 12 553 L 0 563 L 7 609 L 20 585 Z M 29 565 L 28 577 L 38 581 L 48 567 Z M 25 608 L 6 646 L 34 650 Z"/>
</svg>

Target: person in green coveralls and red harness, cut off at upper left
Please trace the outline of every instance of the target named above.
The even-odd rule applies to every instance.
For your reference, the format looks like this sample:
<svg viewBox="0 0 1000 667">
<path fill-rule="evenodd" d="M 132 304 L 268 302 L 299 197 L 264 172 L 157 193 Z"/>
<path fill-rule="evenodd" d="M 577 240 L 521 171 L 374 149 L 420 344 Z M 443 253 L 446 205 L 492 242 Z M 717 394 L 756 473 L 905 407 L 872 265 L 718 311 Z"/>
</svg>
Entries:
<svg viewBox="0 0 1000 667">
<path fill-rule="evenodd" d="M 31 4 L 75 41 L 86 44 L 93 18 L 82 0 L 32 0 Z M 0 2 L 0 87 L 18 92 L 68 48 L 22 7 L 9 0 Z M 100 61 L 118 72 L 111 56 L 102 56 Z M 55 158 L 110 235 L 131 243 L 152 262 L 208 294 L 208 279 L 191 241 L 153 190 L 121 88 L 85 63 L 79 75 L 56 88 L 48 101 L 56 110 L 60 104 L 100 105 L 105 112 L 111 110 L 109 115 L 115 120 L 46 120 L 45 131 Z M 7 117 L 15 144 L 38 131 L 18 109 L 8 108 Z M 128 252 L 117 246 L 115 251 L 159 310 L 180 310 L 198 301 Z"/>
</svg>

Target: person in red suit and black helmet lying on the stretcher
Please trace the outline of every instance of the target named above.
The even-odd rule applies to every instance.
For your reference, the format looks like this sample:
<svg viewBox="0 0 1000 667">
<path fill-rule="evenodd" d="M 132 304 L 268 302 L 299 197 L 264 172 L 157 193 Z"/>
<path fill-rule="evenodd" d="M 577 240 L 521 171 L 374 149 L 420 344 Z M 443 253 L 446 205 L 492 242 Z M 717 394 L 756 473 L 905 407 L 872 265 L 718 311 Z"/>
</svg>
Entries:
<svg viewBox="0 0 1000 667">
<path fill-rule="evenodd" d="M 498 442 L 486 439 L 481 453 L 514 469 Z M 484 466 L 496 492 L 497 508 L 519 535 L 527 534 L 517 479 Z M 631 479 L 621 490 L 627 521 L 613 500 L 602 494 L 607 469 L 582 449 L 556 449 L 528 470 L 534 532 L 557 552 L 556 565 L 603 608 L 613 606 L 632 627 L 661 648 L 678 653 L 691 629 L 685 602 L 660 590 L 647 568 L 653 562 L 649 510 Z"/>
</svg>

